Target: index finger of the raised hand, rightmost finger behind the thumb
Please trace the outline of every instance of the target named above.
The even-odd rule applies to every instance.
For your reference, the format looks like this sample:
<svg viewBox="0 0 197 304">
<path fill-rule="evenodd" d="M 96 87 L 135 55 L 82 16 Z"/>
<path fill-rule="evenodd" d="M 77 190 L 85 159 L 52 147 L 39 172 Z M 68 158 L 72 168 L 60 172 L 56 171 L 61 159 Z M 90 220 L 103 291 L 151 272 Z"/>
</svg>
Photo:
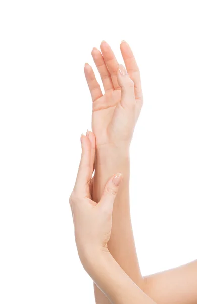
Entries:
<svg viewBox="0 0 197 304">
<path fill-rule="evenodd" d="M 143 94 L 141 89 L 141 79 L 140 79 L 140 72 L 133 55 L 133 52 L 126 41 L 122 41 L 120 45 L 120 50 L 122 53 L 122 57 L 124 59 L 124 63 L 129 74 L 129 77 L 134 82 L 134 89 L 135 89 L 135 99 L 143 100 Z"/>
</svg>

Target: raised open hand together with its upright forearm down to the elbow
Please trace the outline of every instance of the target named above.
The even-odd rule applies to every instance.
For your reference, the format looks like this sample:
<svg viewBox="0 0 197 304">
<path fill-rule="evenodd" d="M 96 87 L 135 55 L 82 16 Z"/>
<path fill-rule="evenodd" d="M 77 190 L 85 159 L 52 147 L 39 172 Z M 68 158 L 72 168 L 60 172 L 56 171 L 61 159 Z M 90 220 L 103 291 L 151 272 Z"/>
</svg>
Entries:
<svg viewBox="0 0 197 304">
<path fill-rule="evenodd" d="M 127 70 L 122 65 L 119 66 L 106 42 L 102 42 L 101 50 L 103 56 L 95 48 L 92 50 L 92 56 L 103 82 L 105 90 L 103 96 L 92 68 L 87 64 L 84 68 L 93 100 L 92 130 L 96 136 L 93 199 L 96 202 L 100 200 L 110 176 L 116 172 L 123 174 L 123 181 L 115 200 L 112 234 L 108 248 L 121 268 L 130 277 L 134 273 L 134 282 L 142 286 L 143 278 L 135 250 L 129 206 L 129 146 L 143 104 L 139 69 L 135 60 L 129 60 L 132 52 L 128 44 L 121 44 L 121 52 L 130 74 L 127 74 Z M 130 75 L 136 83 L 129 77 Z M 100 103 L 102 106 L 98 110 L 98 105 L 95 104 Z M 109 303 L 95 284 L 94 290 L 97 304 Z"/>
</svg>

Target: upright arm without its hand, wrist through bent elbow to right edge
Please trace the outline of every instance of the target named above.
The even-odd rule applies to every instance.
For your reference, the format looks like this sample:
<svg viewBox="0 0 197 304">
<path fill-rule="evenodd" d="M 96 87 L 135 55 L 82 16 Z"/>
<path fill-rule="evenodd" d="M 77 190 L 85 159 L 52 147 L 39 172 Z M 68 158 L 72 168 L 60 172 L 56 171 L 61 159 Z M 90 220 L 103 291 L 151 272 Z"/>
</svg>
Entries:
<svg viewBox="0 0 197 304">
<path fill-rule="evenodd" d="M 118 172 L 123 180 L 114 203 L 113 224 L 108 249 L 125 273 L 157 303 L 188 302 L 197 299 L 197 262 L 143 278 L 135 250 L 129 208 L 129 150 L 108 147 L 97 151 L 93 196 L 98 201 L 106 181 Z M 94 284 L 97 304 L 109 304 L 109 299 Z M 180 292 L 181 290 L 181 292 Z M 188 292 L 189 291 L 189 292 Z"/>
</svg>

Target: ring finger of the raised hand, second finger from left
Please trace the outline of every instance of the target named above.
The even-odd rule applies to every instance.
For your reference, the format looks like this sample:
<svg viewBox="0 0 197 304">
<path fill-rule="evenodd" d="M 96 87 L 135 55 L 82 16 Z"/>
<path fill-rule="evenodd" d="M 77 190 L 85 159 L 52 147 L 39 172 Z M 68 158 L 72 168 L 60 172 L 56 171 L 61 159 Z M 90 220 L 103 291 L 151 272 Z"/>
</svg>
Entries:
<svg viewBox="0 0 197 304">
<path fill-rule="evenodd" d="M 110 72 L 105 64 L 105 61 L 103 59 L 103 56 L 98 49 L 93 48 L 91 55 L 93 57 L 93 60 L 95 62 L 95 65 L 98 69 L 98 72 L 100 73 L 101 80 L 103 83 L 104 91 L 114 90 L 113 82 L 111 79 Z"/>
</svg>

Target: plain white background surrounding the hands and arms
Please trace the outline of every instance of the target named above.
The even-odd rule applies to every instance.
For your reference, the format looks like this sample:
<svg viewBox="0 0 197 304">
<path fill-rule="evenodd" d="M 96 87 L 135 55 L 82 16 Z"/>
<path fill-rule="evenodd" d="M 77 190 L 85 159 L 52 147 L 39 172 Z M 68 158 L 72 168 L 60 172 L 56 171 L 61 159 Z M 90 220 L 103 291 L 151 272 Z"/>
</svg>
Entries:
<svg viewBox="0 0 197 304">
<path fill-rule="evenodd" d="M 126 40 L 144 107 L 131 144 L 131 216 L 143 275 L 196 259 L 195 1 L 0 4 L 0 302 L 93 303 L 68 203 L 91 129 L 83 74 Z M 96 72 L 97 74 L 97 72 Z"/>
</svg>

